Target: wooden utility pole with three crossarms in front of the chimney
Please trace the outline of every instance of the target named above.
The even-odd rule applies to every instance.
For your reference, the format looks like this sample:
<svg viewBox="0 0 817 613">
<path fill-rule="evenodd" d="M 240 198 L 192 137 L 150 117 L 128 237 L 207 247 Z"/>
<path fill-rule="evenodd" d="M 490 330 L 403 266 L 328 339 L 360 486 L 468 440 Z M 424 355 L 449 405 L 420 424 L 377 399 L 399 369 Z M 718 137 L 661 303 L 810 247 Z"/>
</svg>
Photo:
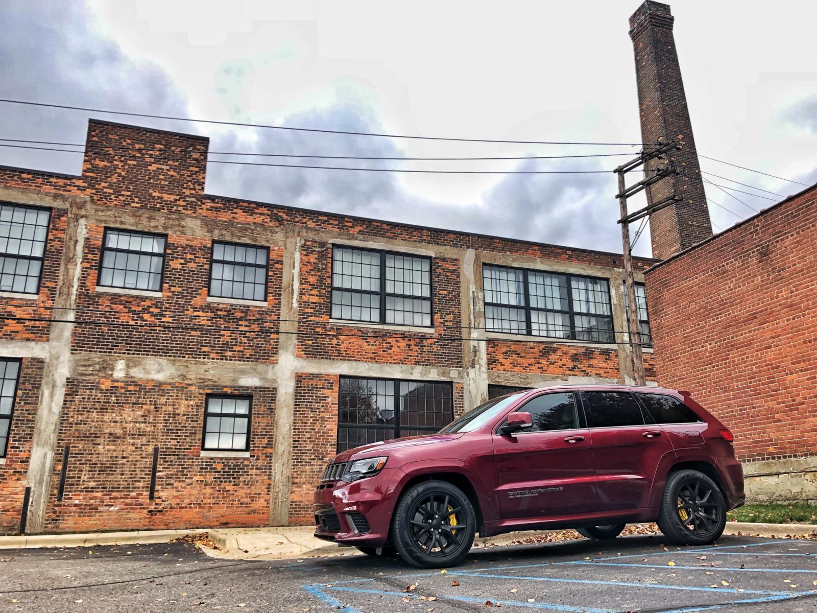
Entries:
<svg viewBox="0 0 817 613">
<path fill-rule="evenodd" d="M 623 163 L 616 168 L 614 172 L 618 175 L 618 206 L 621 212 L 621 219 L 618 223 L 621 224 L 621 239 L 624 248 L 624 287 L 627 292 L 627 329 L 629 329 L 629 342 L 632 347 L 632 375 L 636 379 L 636 385 L 645 385 L 646 378 L 644 374 L 644 351 L 643 341 L 641 339 L 641 328 L 638 324 L 638 306 L 636 304 L 636 280 L 632 271 L 632 245 L 630 244 L 630 223 L 641 219 L 642 217 L 649 217 L 651 213 L 659 211 L 662 208 L 671 206 L 680 202 L 681 199 L 675 195 L 663 199 L 658 203 L 648 202 L 645 208 L 641 208 L 635 213 L 627 213 L 627 198 L 635 195 L 641 190 L 645 190 L 654 183 L 661 181 L 663 177 L 669 177 L 672 174 L 677 174 L 677 169 L 672 164 L 664 166 L 657 166 L 650 172 L 654 172 L 652 177 L 645 177 L 638 181 L 635 185 L 627 187 L 624 180 L 624 175 L 627 172 L 635 170 L 648 159 L 659 158 L 667 151 L 677 149 L 678 145 L 675 143 L 659 143 L 657 147 L 649 151 L 641 151 L 637 158 L 631 159 L 629 162 Z"/>
</svg>

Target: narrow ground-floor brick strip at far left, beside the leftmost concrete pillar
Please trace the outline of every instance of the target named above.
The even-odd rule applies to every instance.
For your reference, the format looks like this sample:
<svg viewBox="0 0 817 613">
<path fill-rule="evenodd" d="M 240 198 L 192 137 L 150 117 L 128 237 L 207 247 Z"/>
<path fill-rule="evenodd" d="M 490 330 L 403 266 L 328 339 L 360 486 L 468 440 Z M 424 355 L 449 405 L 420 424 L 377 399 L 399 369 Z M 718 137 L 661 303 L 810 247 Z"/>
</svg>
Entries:
<svg viewBox="0 0 817 613">
<path fill-rule="evenodd" d="M 20 528 L 43 364 L 38 358 L 24 358 L 20 365 L 17 399 L 11 418 L 12 436 L 8 441 L 6 463 L 0 464 L 0 534 L 16 534 Z"/>
</svg>

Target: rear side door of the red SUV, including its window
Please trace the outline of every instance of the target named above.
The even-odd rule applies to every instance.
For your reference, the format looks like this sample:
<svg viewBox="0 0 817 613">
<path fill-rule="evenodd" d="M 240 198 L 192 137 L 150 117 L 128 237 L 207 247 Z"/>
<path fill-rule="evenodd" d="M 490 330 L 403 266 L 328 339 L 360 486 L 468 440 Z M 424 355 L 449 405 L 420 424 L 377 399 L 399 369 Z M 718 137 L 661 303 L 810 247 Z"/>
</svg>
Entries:
<svg viewBox="0 0 817 613">
<path fill-rule="evenodd" d="M 673 453 L 663 428 L 645 418 L 632 392 L 582 392 L 592 439 L 599 511 L 649 506 L 655 471 Z"/>
</svg>

